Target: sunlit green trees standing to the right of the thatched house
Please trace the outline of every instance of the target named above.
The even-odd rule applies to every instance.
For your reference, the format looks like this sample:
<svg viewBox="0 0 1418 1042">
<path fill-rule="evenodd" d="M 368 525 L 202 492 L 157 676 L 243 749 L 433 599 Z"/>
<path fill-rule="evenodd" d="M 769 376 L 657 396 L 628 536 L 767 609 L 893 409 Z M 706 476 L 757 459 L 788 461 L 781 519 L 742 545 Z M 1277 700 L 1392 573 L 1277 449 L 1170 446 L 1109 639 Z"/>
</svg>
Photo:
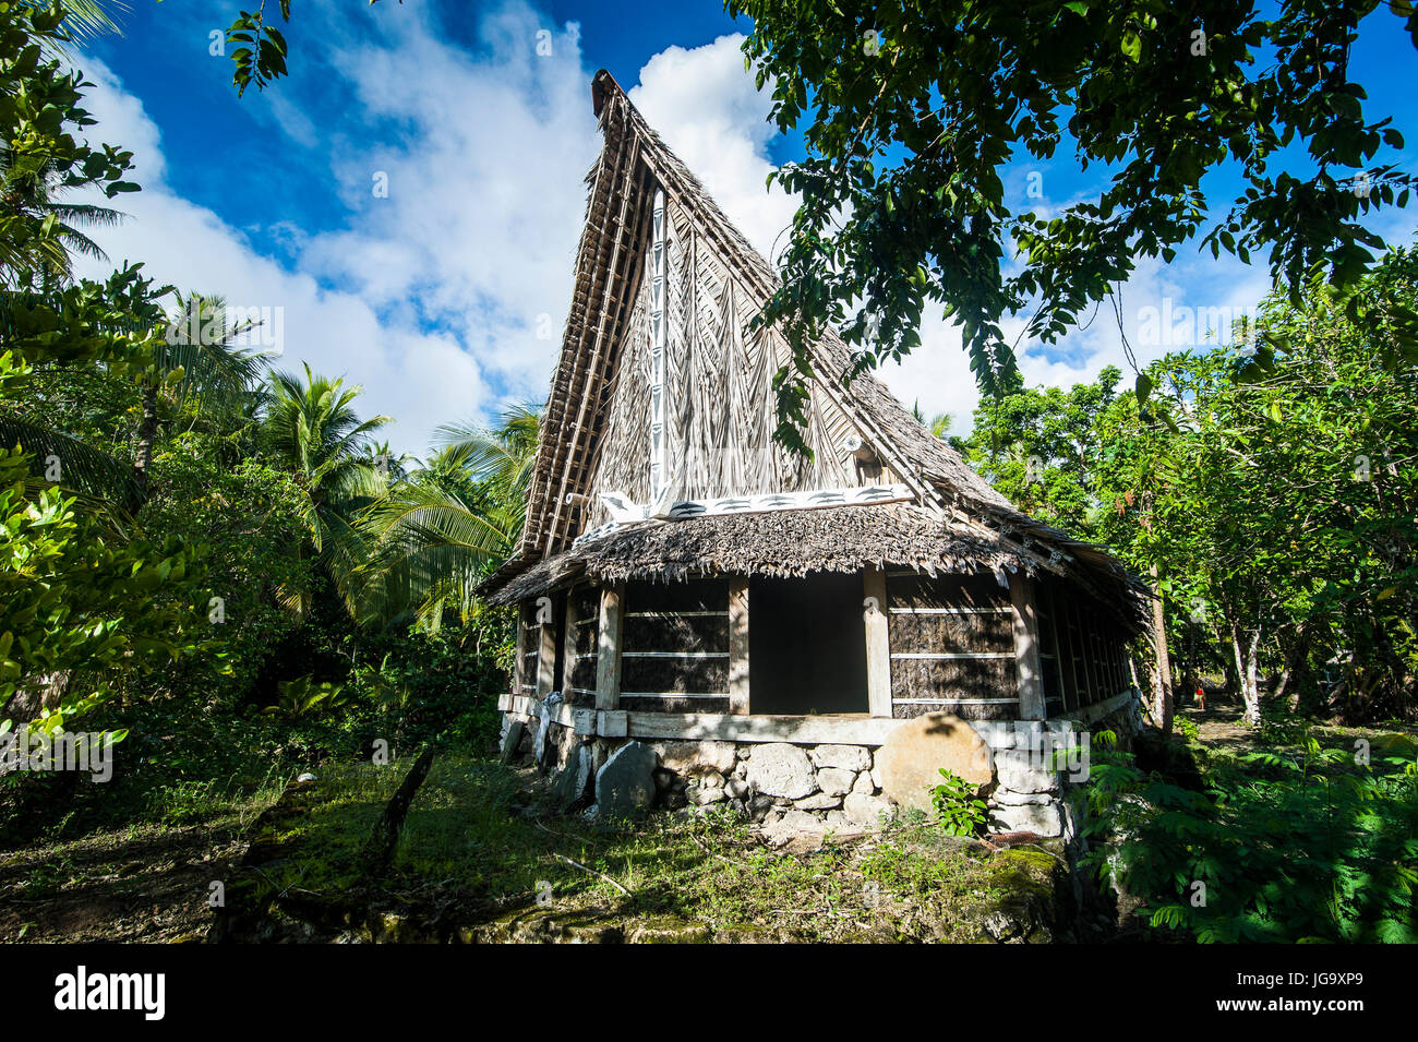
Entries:
<svg viewBox="0 0 1418 1042">
<path fill-rule="evenodd" d="M 1159 574 L 1173 659 L 1306 709 L 1411 713 L 1418 675 L 1418 259 L 1268 298 L 1238 344 L 987 401 L 964 458 L 1014 503 Z M 1244 337 L 1249 336 L 1254 344 Z M 1255 346 L 1259 344 L 1259 346 Z"/>
</svg>

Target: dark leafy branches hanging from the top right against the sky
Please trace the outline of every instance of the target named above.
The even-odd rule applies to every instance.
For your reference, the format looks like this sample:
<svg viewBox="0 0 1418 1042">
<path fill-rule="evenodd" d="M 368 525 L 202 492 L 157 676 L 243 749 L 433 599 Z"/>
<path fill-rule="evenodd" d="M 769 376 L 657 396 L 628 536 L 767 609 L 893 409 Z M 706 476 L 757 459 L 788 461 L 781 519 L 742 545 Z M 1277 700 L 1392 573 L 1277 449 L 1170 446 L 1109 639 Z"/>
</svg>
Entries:
<svg viewBox="0 0 1418 1042">
<path fill-rule="evenodd" d="M 788 444 L 824 325 L 861 370 L 919 347 L 927 303 L 940 306 L 993 397 L 1020 379 L 1008 316 L 1027 315 L 1021 337 L 1055 342 L 1188 240 L 1263 257 L 1292 293 L 1316 271 L 1350 285 L 1384 248 L 1361 218 L 1408 203 L 1412 176 L 1380 162 L 1402 135 L 1366 118 L 1349 69 L 1380 0 L 1283 0 L 1269 17 L 1234 0 L 726 6 L 753 18 L 746 61 L 807 153 L 773 174 L 801 204 L 759 318 L 797 354 L 780 374 Z M 1385 7 L 1418 45 L 1414 6 Z M 1017 164 L 1042 179 L 1068 152 L 1107 180 L 1044 211 Z M 1212 211 L 1201 180 L 1222 164 L 1245 187 Z"/>
</svg>

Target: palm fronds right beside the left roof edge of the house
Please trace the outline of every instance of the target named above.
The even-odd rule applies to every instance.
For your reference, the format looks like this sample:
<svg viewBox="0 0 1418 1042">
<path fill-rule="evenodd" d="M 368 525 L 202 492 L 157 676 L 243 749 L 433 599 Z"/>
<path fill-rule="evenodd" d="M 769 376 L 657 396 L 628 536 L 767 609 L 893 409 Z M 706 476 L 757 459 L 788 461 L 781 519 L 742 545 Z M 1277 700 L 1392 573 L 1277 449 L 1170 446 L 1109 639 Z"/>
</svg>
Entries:
<svg viewBox="0 0 1418 1042">
<path fill-rule="evenodd" d="M 540 415 L 516 405 L 492 430 L 440 427 L 437 455 L 366 512 L 364 621 L 437 629 L 450 610 L 468 618 L 478 583 L 522 534 Z"/>
</svg>

